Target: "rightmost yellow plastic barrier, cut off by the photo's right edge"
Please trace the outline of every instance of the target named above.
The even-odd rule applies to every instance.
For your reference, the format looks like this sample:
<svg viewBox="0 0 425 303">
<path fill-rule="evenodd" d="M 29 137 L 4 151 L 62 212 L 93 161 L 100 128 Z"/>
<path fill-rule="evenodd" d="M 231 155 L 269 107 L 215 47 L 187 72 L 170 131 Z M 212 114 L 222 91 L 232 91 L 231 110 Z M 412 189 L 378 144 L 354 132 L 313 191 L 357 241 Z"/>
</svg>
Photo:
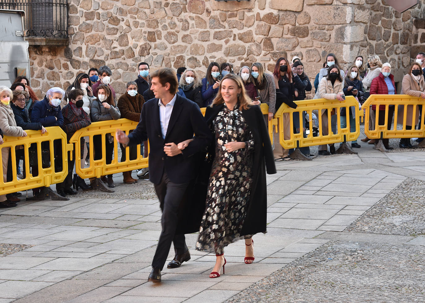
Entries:
<svg viewBox="0 0 425 303">
<path fill-rule="evenodd" d="M 372 126 L 373 130 L 369 130 L 369 120 L 371 113 L 371 106 L 376 106 L 375 112 L 375 125 Z M 384 105 L 384 110 L 379 110 L 379 106 Z M 390 105 L 394 105 L 394 126 L 390 130 L 387 129 L 388 123 L 388 109 Z M 407 119 L 407 107 L 412 107 L 412 119 Z M 416 113 L 419 108 L 417 105 L 425 105 L 425 101 L 422 98 L 412 97 L 410 95 L 370 95 L 370 97 L 363 104 L 365 109 L 365 135 L 370 139 L 380 139 L 380 138 L 412 138 L 412 137 L 425 137 L 425 125 L 424 123 L 419 123 L 420 128 L 414 129 L 416 121 Z M 397 129 L 397 119 L 398 119 L 398 106 L 403 106 L 403 125 L 402 129 Z M 378 119 L 380 115 L 385 115 L 384 125 L 378 125 Z M 425 106 L 422 106 L 422 117 L 425 117 Z M 423 120 L 423 118 L 422 118 Z M 420 122 L 420 121 L 419 121 Z M 412 126 L 412 129 L 406 129 L 406 125 Z"/>
</svg>

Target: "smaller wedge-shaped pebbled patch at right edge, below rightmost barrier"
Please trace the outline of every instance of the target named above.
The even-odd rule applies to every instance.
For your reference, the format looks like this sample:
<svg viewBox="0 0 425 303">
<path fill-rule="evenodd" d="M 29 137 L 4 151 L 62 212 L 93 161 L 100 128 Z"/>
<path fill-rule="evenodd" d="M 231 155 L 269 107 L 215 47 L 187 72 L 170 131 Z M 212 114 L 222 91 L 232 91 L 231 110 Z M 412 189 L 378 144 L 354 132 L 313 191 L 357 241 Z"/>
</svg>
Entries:
<svg viewBox="0 0 425 303">
<path fill-rule="evenodd" d="M 425 183 L 406 179 L 346 228 L 355 233 L 425 234 Z"/>
</svg>

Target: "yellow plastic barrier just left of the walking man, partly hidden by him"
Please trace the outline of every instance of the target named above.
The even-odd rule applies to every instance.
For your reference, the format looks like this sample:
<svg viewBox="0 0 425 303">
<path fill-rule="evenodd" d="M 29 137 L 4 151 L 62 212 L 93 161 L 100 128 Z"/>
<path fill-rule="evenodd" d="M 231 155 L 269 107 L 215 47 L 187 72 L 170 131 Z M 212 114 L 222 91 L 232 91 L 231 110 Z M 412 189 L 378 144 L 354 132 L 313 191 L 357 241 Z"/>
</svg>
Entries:
<svg viewBox="0 0 425 303">
<path fill-rule="evenodd" d="M 115 139 L 116 129 L 121 129 L 127 135 L 130 130 L 136 128 L 138 122 L 130 121 L 128 119 L 118 119 L 118 120 L 108 120 L 108 121 L 99 121 L 91 123 L 89 126 L 77 130 L 74 135 L 69 140 L 69 143 L 74 143 L 75 146 L 75 170 L 77 174 L 85 179 L 90 177 L 100 178 L 107 174 L 115 174 L 123 171 L 131 171 L 136 168 L 144 168 L 148 166 L 148 158 L 143 158 L 140 155 L 140 145 L 137 146 L 137 157 L 134 160 L 130 160 L 129 147 L 126 147 L 126 160 L 119 162 L 118 149 L 119 144 Z M 114 149 L 113 149 L 113 159 L 111 164 L 106 164 L 106 150 L 105 150 L 105 140 L 106 134 L 111 134 L 114 138 Z M 89 137 L 89 146 L 94 146 L 93 136 L 101 135 L 102 136 L 102 158 L 99 160 L 94 160 L 94 149 L 90 148 L 90 165 L 86 168 L 81 168 L 81 146 L 80 139 L 82 137 Z"/>
</svg>

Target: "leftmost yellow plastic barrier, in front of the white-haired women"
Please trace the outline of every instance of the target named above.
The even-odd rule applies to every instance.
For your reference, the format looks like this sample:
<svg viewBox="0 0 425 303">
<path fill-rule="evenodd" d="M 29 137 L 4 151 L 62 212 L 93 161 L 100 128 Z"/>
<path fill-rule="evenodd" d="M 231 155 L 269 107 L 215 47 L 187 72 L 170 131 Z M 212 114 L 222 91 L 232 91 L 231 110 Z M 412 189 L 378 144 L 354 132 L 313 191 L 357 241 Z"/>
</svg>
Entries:
<svg viewBox="0 0 425 303">
<path fill-rule="evenodd" d="M 42 186 L 50 186 L 51 184 L 62 182 L 68 174 L 68 161 L 67 153 L 72 150 L 72 145 L 67 143 L 66 134 L 59 126 L 46 127 L 47 132 L 41 134 L 39 130 L 26 130 L 28 136 L 26 137 L 8 137 L 3 138 L 4 143 L 0 145 L 0 149 L 10 148 L 11 153 L 11 166 L 12 166 L 12 181 L 3 182 L 3 166 L 0 165 L 0 192 L 2 194 L 10 194 L 16 191 L 25 191 L 32 188 L 38 188 Z M 62 170 L 55 172 L 54 170 L 54 158 L 53 153 L 53 141 L 60 140 L 62 143 Z M 42 167 L 42 142 L 47 141 L 49 144 L 50 152 L 50 166 L 47 168 Z M 44 143 L 44 144 L 47 144 Z M 29 163 L 29 148 L 31 144 L 37 145 L 37 162 L 38 162 L 38 176 L 33 177 L 30 174 L 30 163 Z M 16 149 L 23 146 L 24 152 L 24 170 L 25 178 L 17 180 L 16 170 Z M 1 160 L 1 153 L 0 153 Z"/>
</svg>

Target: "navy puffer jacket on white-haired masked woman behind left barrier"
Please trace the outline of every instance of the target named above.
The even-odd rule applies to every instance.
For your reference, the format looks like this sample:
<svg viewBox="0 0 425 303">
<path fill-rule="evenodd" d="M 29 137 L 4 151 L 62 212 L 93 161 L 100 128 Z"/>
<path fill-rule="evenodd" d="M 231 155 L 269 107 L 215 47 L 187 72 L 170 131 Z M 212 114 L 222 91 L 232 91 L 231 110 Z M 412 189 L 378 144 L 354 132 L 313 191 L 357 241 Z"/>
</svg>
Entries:
<svg viewBox="0 0 425 303">
<path fill-rule="evenodd" d="M 60 105 L 52 107 L 47 97 L 34 105 L 31 112 L 31 121 L 41 123 L 42 126 L 61 126 L 63 125 L 63 116 L 60 111 Z"/>
</svg>

